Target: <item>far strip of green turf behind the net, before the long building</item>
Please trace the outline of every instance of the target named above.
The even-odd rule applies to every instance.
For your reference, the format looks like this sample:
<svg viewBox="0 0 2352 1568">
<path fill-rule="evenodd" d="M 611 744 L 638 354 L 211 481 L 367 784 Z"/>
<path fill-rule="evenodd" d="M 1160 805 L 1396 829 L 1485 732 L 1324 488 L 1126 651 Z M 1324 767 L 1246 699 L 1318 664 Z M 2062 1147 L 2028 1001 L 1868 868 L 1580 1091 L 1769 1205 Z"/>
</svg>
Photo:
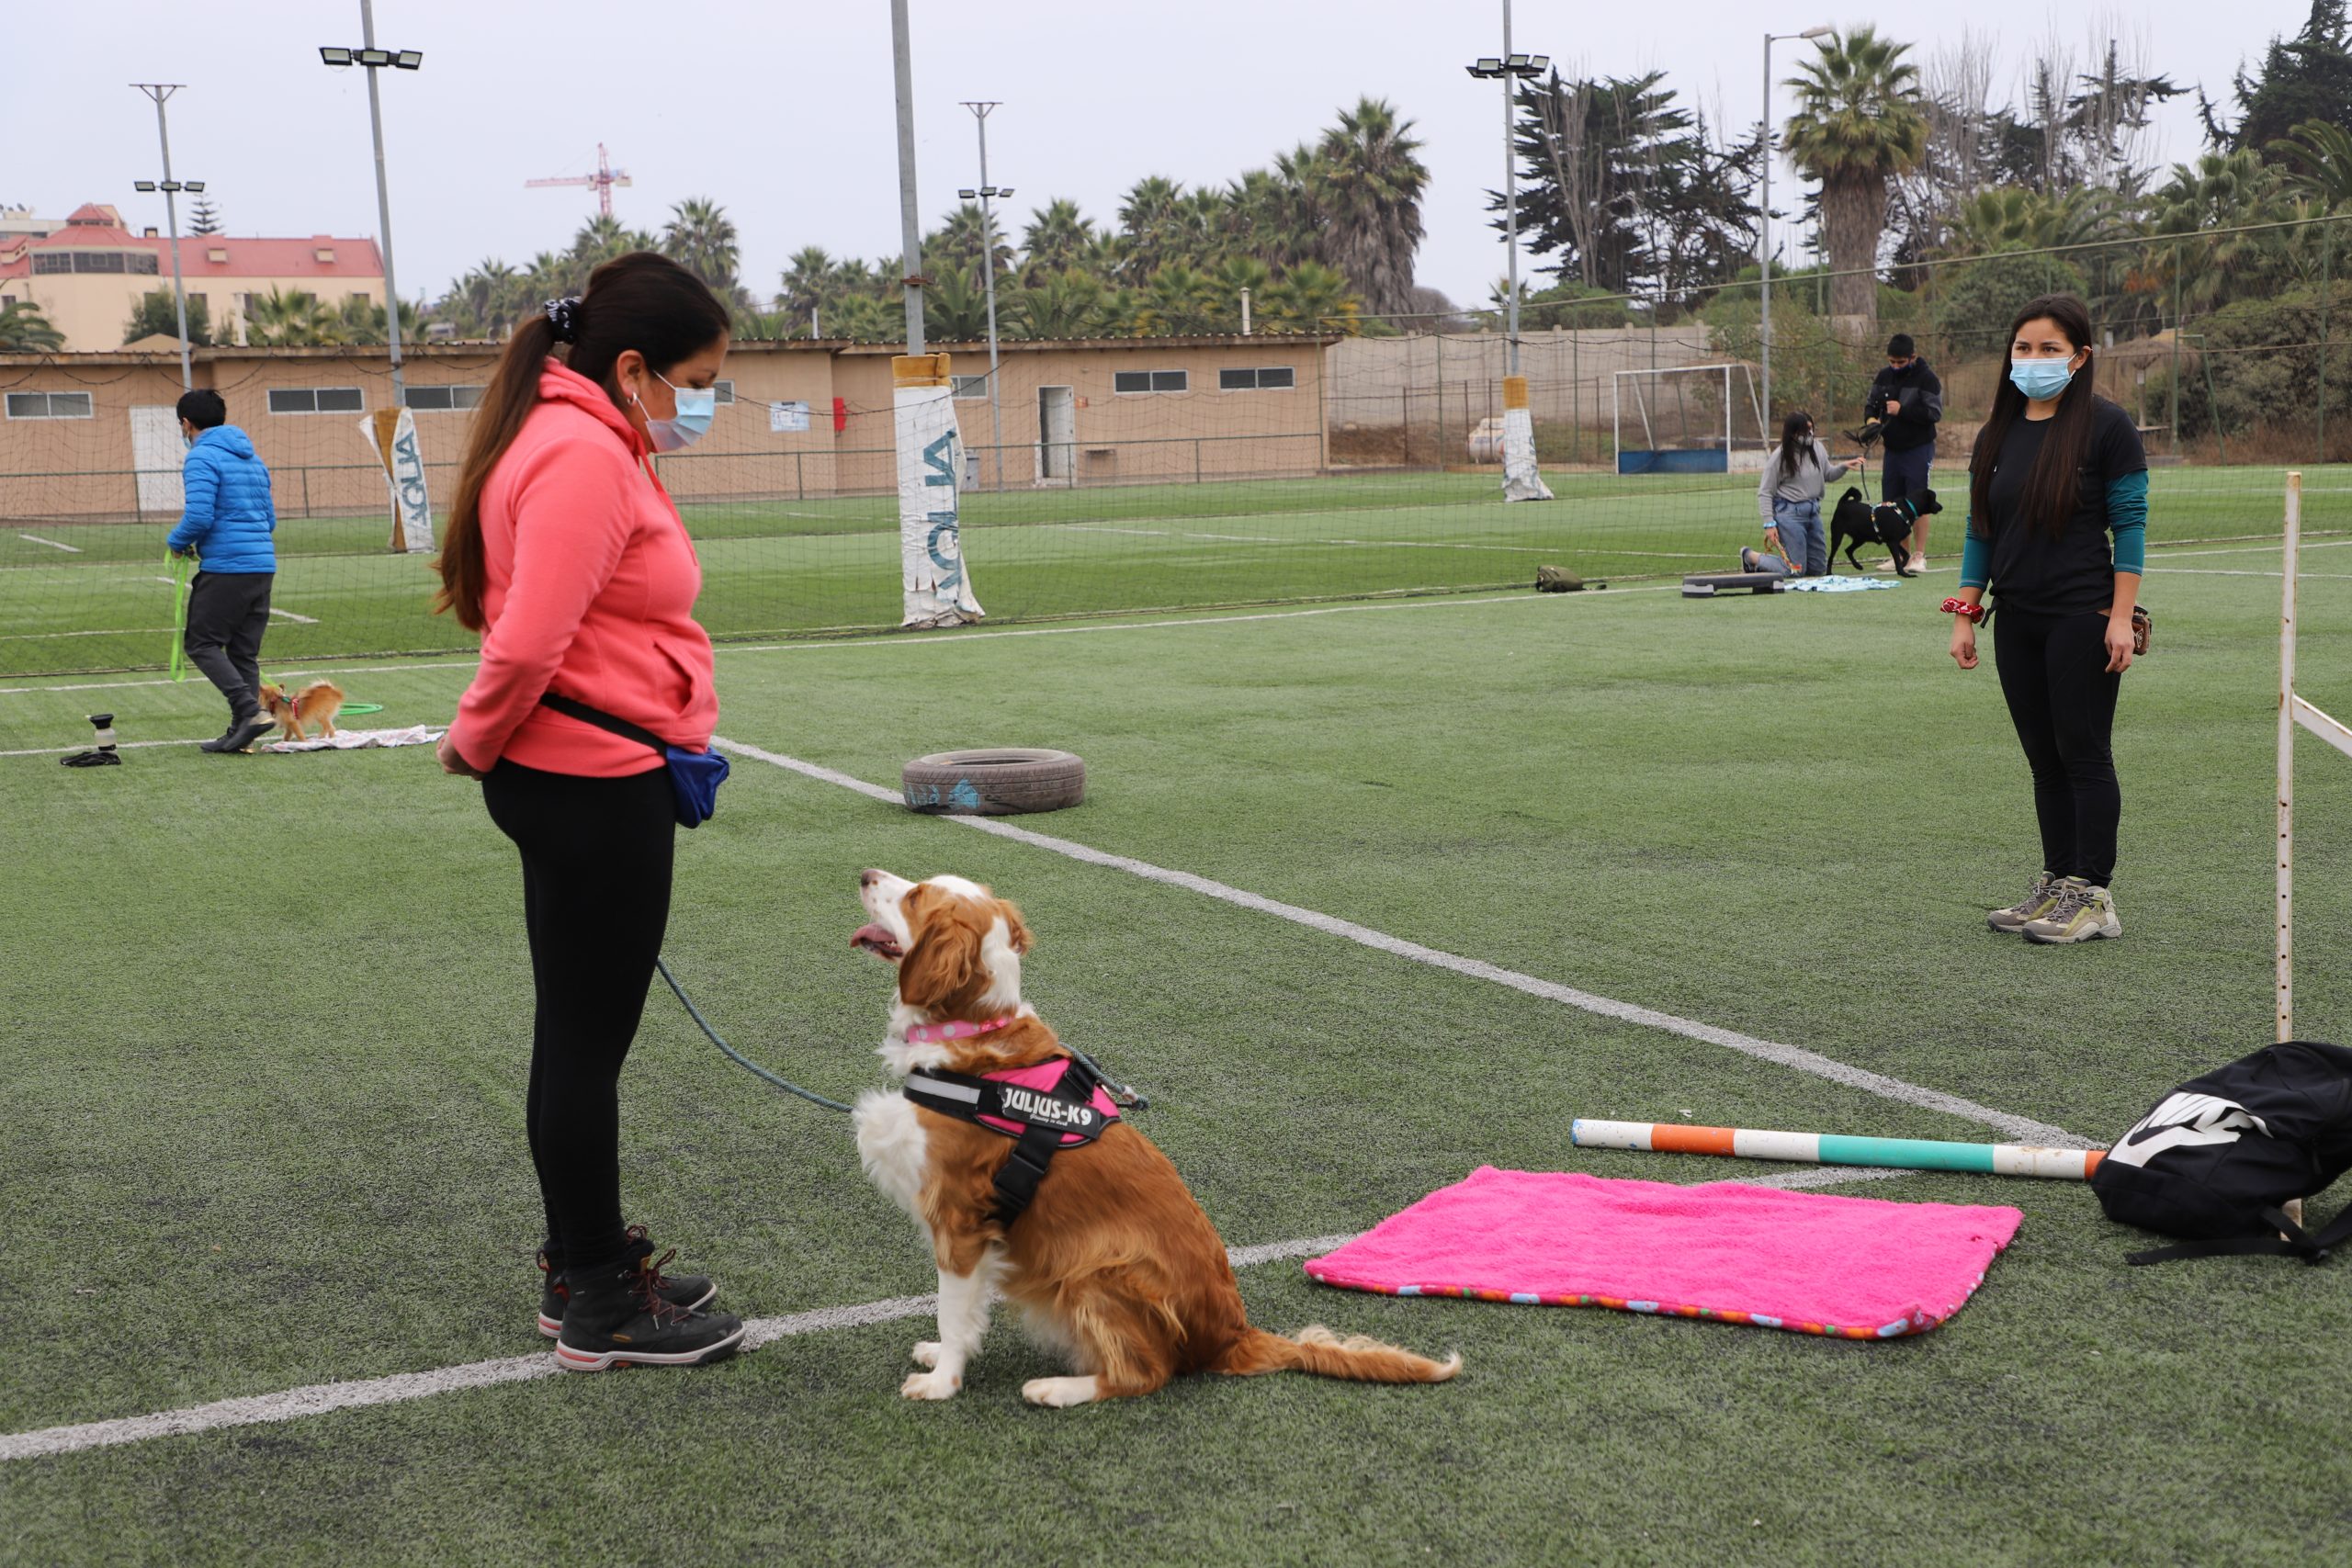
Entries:
<svg viewBox="0 0 2352 1568">
<path fill-rule="evenodd" d="M 1550 475 L 1557 501 L 1501 505 L 1491 475 L 971 491 L 964 555 L 1002 621 L 1724 569 L 1757 538 L 1755 475 Z M 2169 468 L 2157 534 L 2277 536 L 2277 468 Z M 1837 487 L 1842 489 L 1844 482 Z M 1959 512 L 1931 543 L 1957 550 Z M 715 637 L 887 630 L 898 621 L 896 496 L 687 503 Z M 2352 470 L 2307 473 L 2305 529 L 2352 529 Z M 160 668 L 172 646 L 162 524 L 0 527 L 0 675 Z M 437 654 L 470 644 L 433 616 L 428 559 L 386 555 L 381 517 L 278 529 L 273 658 Z M 1872 555 L 1882 555 L 1872 550 Z M 5 724 L 0 724 L 5 733 Z"/>
</svg>

